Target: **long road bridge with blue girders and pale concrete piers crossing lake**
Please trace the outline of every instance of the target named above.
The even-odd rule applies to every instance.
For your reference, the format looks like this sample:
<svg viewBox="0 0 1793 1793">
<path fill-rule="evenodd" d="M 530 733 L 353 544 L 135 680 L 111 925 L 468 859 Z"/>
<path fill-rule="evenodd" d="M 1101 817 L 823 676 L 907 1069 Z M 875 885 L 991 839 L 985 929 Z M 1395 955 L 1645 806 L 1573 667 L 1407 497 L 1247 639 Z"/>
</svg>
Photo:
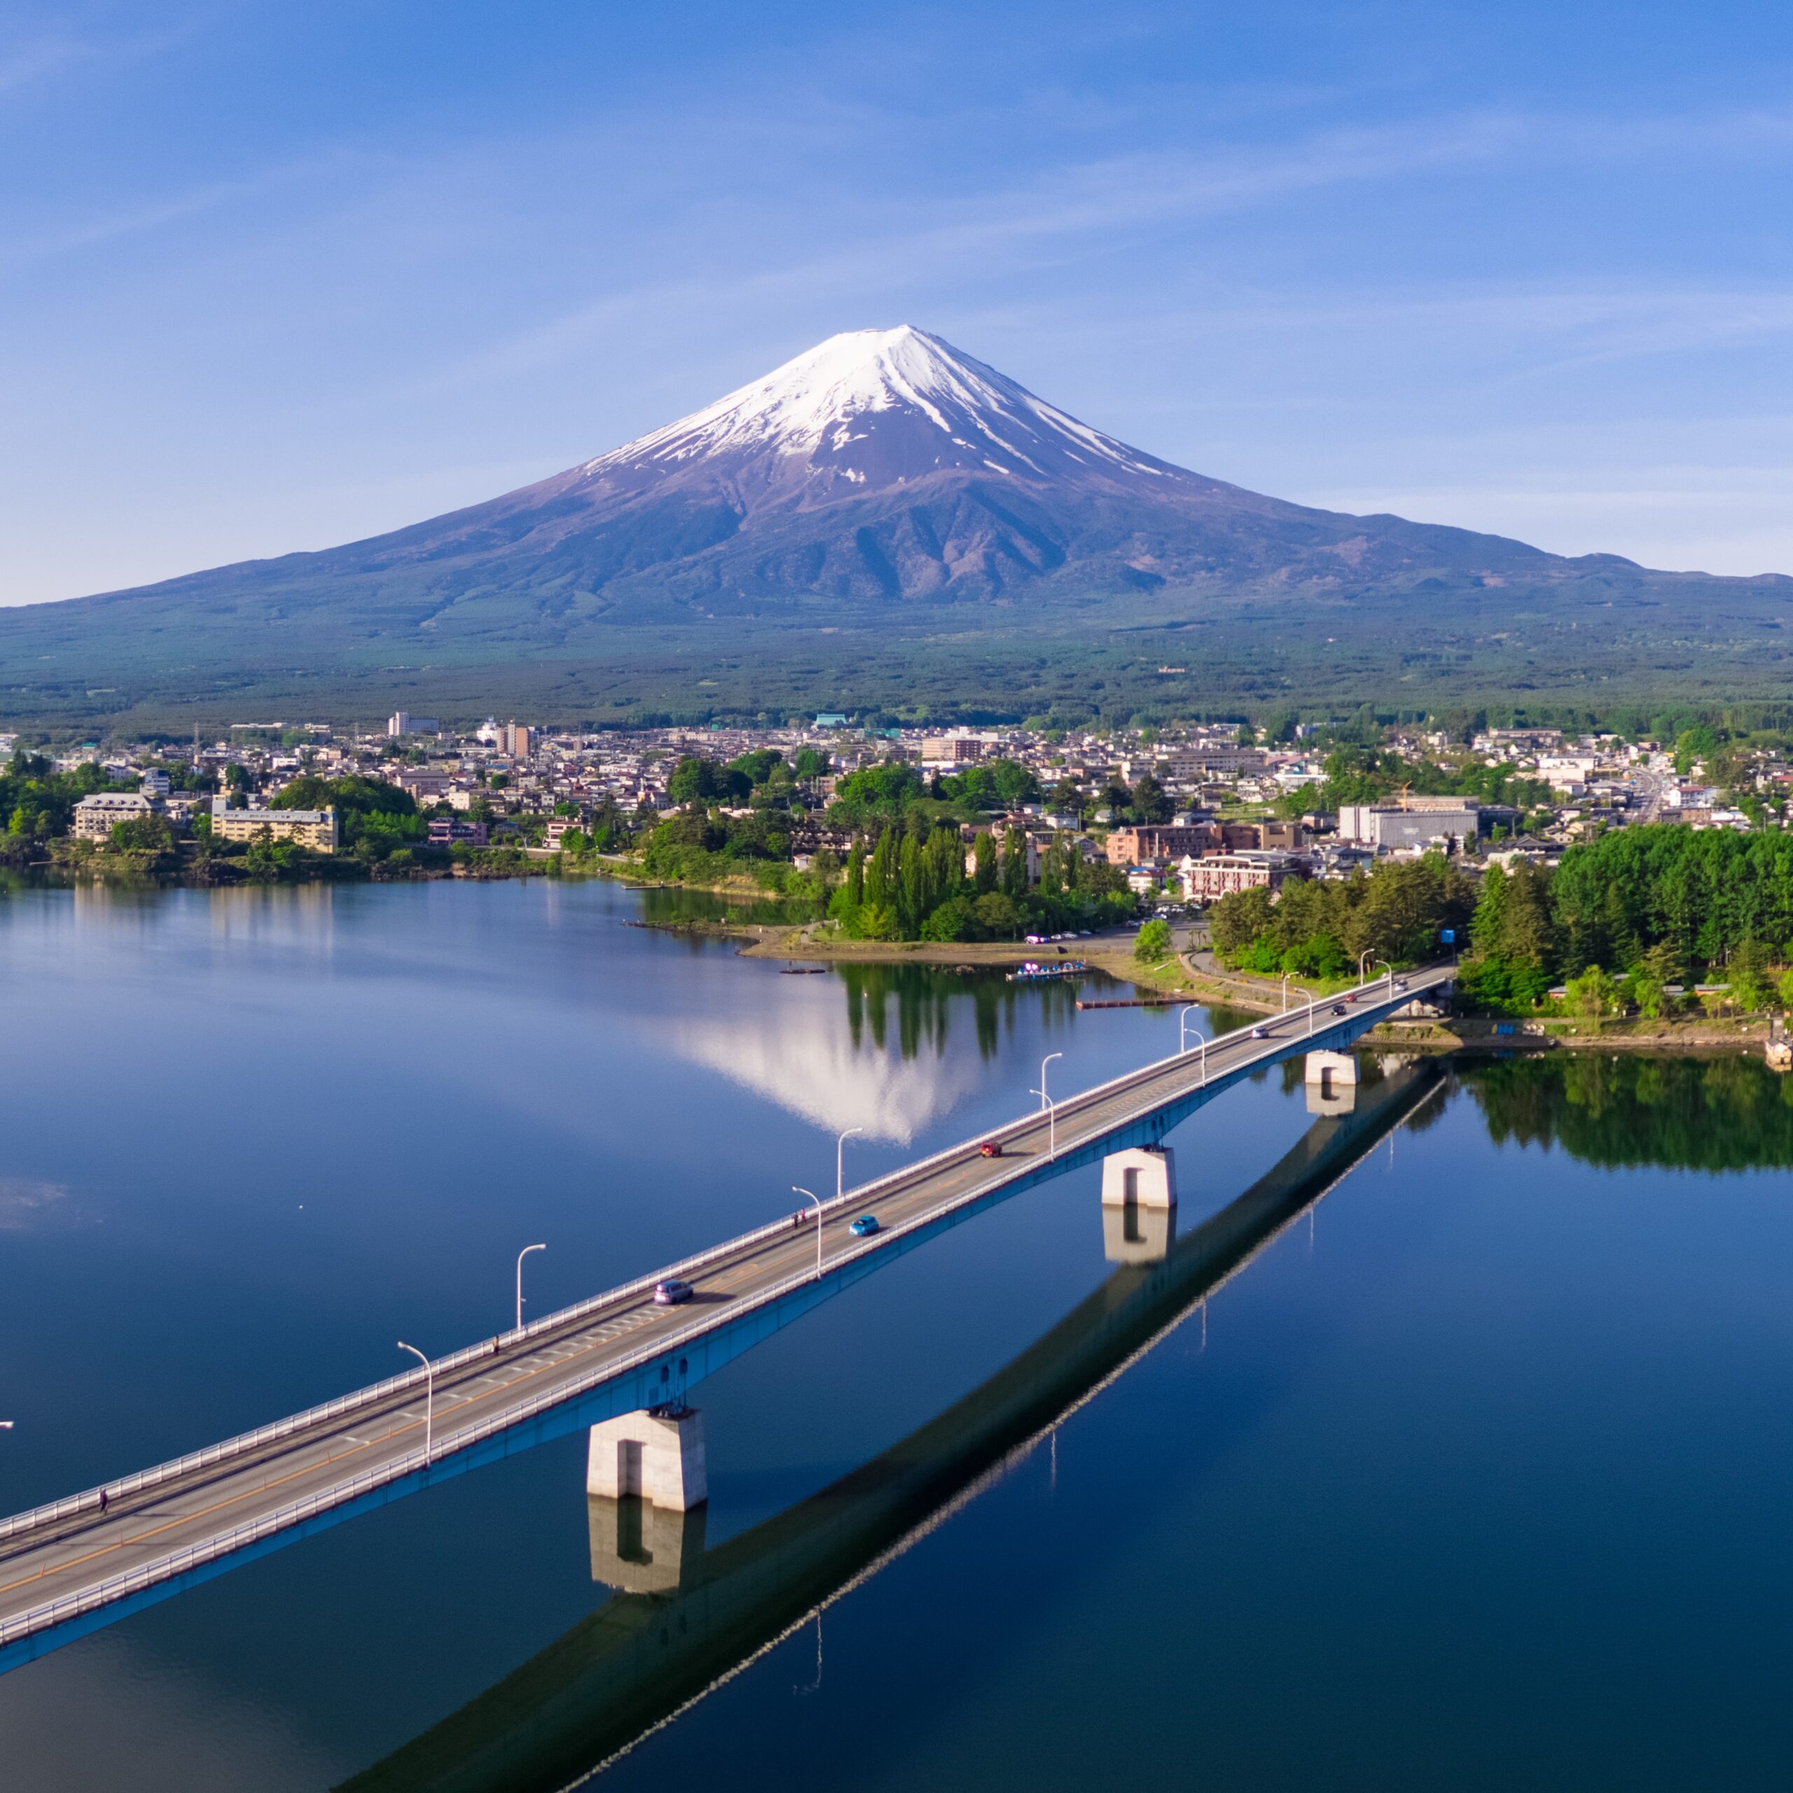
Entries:
<svg viewBox="0 0 1793 1793">
<path fill-rule="evenodd" d="M 1343 1054 L 1434 993 L 1449 965 L 1379 979 L 1097 1085 L 651 1277 L 170 1463 L 0 1520 L 0 1671 L 430 1483 L 593 1431 L 592 1488 L 703 1501 L 687 1391 L 760 1339 L 997 1201 L 1128 1149 L 1156 1148 L 1196 1108 L 1286 1058 Z M 1348 1060 L 1334 1060 L 1341 1076 Z M 1148 1212 L 1174 1189 L 1153 1187 Z M 1121 1196 L 1126 1203 L 1126 1196 Z M 855 1237 L 855 1216 L 880 1232 Z M 1142 1230 L 1144 1232 L 1144 1230 Z M 656 1307 L 681 1277 L 692 1302 Z M 669 1433 L 671 1427 L 671 1433 Z M 604 1486 L 642 1463 L 645 1481 Z M 667 1486 L 671 1481 L 674 1486 Z"/>
</svg>

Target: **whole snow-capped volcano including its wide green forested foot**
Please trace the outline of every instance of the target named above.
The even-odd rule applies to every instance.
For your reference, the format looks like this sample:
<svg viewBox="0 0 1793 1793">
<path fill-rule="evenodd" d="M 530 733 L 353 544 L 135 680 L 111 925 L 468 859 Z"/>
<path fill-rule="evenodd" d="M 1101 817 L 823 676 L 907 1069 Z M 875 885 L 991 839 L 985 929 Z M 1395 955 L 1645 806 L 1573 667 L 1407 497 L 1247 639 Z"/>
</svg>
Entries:
<svg viewBox="0 0 1793 1793">
<path fill-rule="evenodd" d="M 0 610 L 0 714 L 1119 706 L 1191 658 L 1185 701 L 1734 696 L 1784 689 L 1789 595 L 1262 497 L 904 325 L 409 529 Z"/>
</svg>

